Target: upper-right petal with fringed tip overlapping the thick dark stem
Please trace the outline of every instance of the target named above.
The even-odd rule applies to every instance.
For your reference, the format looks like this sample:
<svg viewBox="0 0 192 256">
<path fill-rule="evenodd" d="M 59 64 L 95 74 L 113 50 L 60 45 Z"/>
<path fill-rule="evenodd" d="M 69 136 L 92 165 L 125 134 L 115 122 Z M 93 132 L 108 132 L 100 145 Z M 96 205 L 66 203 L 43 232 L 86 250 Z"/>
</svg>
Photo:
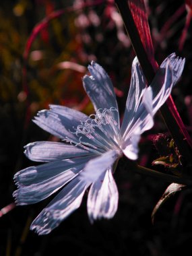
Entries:
<svg viewBox="0 0 192 256">
<path fill-rule="evenodd" d="M 156 114 L 157 110 L 164 104 L 164 102 L 170 95 L 172 86 L 174 86 L 174 84 L 176 84 L 178 79 L 181 77 L 184 64 L 185 59 L 176 57 L 176 55 L 172 53 L 172 55 L 168 56 L 164 60 L 162 65 L 160 65 L 160 69 L 158 69 L 156 76 L 154 77 L 154 80 L 150 85 L 150 87 L 152 88 L 153 116 Z M 142 91 L 141 94 L 144 93 L 144 90 Z M 149 89 L 146 90 L 148 91 Z M 144 108 L 146 108 L 146 106 Z M 127 137 L 131 135 L 131 133 L 133 133 L 134 129 L 138 129 L 139 126 L 141 126 L 141 133 L 152 127 L 151 117 L 147 110 L 143 110 L 142 104 L 139 105 L 139 108 L 137 108 L 134 115 L 131 115 L 131 118 L 132 119 L 129 119 L 129 123 L 123 121 L 127 123 L 127 127 L 125 127 L 126 125 L 121 127 L 121 135 L 124 138 L 124 140 L 125 138 L 127 139 Z"/>
</svg>

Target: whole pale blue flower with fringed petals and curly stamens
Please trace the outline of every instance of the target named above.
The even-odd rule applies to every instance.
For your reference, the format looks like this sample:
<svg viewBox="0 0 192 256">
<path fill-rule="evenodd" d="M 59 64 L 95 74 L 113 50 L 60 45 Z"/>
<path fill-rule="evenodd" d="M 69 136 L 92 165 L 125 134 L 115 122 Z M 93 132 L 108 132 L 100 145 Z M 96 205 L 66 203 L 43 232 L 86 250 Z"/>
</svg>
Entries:
<svg viewBox="0 0 192 256">
<path fill-rule="evenodd" d="M 121 128 L 113 84 L 94 62 L 88 67 L 91 75 L 85 75 L 83 83 L 95 115 L 88 117 L 57 105 L 38 113 L 34 123 L 63 142 L 38 141 L 25 147 L 30 160 L 47 163 L 17 172 L 14 179 L 18 190 L 13 196 L 18 205 L 27 205 L 61 191 L 32 222 L 32 230 L 38 234 L 51 232 L 79 207 L 89 187 L 90 221 L 115 215 L 118 191 L 113 172 L 117 161 L 123 154 L 137 159 L 141 133 L 154 125 L 153 117 L 181 76 L 184 62 L 170 55 L 147 88 L 139 62 L 134 59 Z"/>
</svg>

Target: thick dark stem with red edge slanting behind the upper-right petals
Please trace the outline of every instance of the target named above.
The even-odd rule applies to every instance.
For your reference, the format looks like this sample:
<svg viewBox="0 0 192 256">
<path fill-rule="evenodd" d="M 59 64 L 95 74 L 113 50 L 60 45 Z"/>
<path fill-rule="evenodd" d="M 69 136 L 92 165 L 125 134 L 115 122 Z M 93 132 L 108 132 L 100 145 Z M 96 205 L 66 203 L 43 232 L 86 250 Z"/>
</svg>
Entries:
<svg viewBox="0 0 192 256">
<path fill-rule="evenodd" d="M 139 2 L 143 4 L 143 1 L 139 1 Z M 141 36 L 139 35 L 137 26 L 135 25 L 135 21 L 133 19 L 133 15 L 131 13 L 131 9 L 129 7 L 128 1 L 115 0 L 115 3 L 117 5 L 117 8 L 119 9 L 119 12 L 121 13 L 125 28 L 127 30 L 127 34 L 129 34 L 129 38 L 131 39 L 133 49 L 143 69 L 143 73 L 146 76 L 148 84 L 151 84 L 152 79 L 154 79 L 154 76 L 158 69 L 158 64 L 151 57 L 151 53 L 153 49 L 151 49 L 150 54 L 148 55 L 148 49 L 145 49 L 143 42 L 141 42 Z M 137 15 L 137 14 L 134 14 L 134 15 Z M 141 17 L 141 19 L 142 18 L 143 17 Z M 144 21 L 144 18 L 143 18 L 143 21 Z M 148 34 L 147 38 L 149 37 L 150 37 L 150 34 Z M 192 162 L 191 137 L 189 137 L 189 133 L 187 132 L 187 129 L 183 124 L 183 121 L 177 111 L 177 107 L 174 105 L 174 102 L 171 96 L 168 98 L 168 100 L 166 100 L 166 103 L 160 108 L 160 113 L 164 119 L 164 122 L 166 123 L 166 126 L 168 127 L 168 130 L 170 131 L 170 134 L 172 135 L 177 145 L 177 148 L 179 149 L 180 154 L 185 158 L 185 160 L 187 160 L 188 163 L 191 163 Z"/>
</svg>

